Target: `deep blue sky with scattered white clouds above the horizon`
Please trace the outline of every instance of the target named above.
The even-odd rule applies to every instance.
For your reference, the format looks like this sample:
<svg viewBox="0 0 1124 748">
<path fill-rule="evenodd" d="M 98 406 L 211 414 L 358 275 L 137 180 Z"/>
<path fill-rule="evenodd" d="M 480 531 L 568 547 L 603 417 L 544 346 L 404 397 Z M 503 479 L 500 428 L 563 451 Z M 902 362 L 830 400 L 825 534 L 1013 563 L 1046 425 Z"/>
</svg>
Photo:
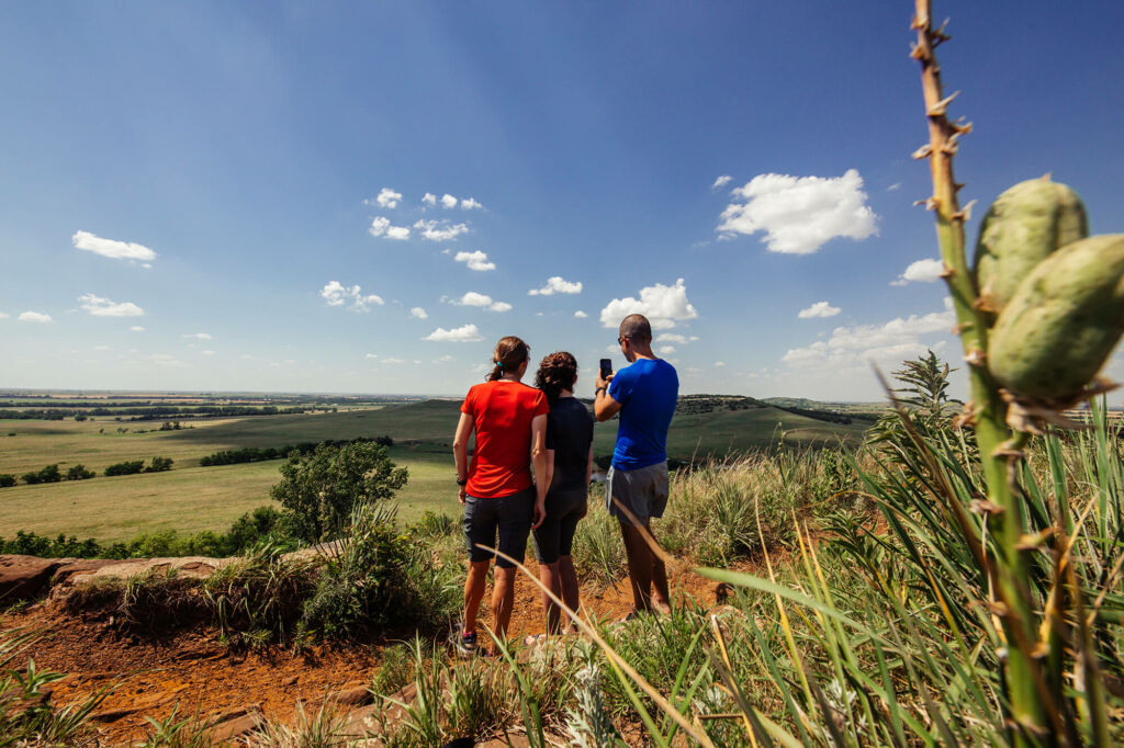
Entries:
<svg viewBox="0 0 1124 748">
<path fill-rule="evenodd" d="M 959 359 L 912 4 L 9 3 L 0 387 L 457 394 L 642 310 L 683 392 L 877 399 Z M 1124 6 L 936 13 L 967 199 L 1124 231 Z"/>
</svg>

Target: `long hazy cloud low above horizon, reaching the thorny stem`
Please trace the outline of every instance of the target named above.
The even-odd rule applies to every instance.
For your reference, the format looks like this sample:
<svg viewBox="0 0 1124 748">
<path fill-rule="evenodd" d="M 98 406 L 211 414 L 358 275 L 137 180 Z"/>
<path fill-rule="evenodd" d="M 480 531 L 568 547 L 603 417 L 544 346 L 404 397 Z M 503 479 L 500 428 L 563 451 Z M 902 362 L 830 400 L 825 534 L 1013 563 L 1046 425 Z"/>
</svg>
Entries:
<svg viewBox="0 0 1124 748">
<path fill-rule="evenodd" d="M 952 301 L 944 300 L 944 311 L 890 320 L 883 325 L 837 327 L 827 340 L 804 348 L 792 348 L 782 357 L 792 368 L 837 371 L 868 362 L 894 365 L 933 347 L 922 337 L 948 332 L 955 322 Z"/>
</svg>

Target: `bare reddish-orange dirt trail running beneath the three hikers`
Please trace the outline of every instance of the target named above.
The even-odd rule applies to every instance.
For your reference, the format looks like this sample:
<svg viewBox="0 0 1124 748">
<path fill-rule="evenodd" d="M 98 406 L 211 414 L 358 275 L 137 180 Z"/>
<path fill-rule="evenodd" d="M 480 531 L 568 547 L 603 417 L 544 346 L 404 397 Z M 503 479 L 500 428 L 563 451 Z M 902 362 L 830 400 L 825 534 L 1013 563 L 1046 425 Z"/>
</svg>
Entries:
<svg viewBox="0 0 1124 748">
<path fill-rule="evenodd" d="M 533 562 L 529 567 L 537 574 Z M 673 572 L 671 584 L 677 599 L 715 603 L 714 583 L 690 572 Z M 632 609 L 632 593 L 625 581 L 600 594 L 583 591 L 582 603 L 598 618 L 617 619 Z M 31 657 L 40 669 L 66 674 L 54 684 L 55 703 L 112 687 L 93 723 L 101 745 L 109 746 L 142 739 L 148 728 L 145 718 L 164 719 L 176 704 L 181 717 L 214 718 L 259 705 L 266 717 L 288 721 L 298 702 L 315 710 L 327 693 L 369 683 L 378 672 L 381 649 L 390 644 L 325 645 L 303 654 L 285 647 L 235 653 L 214 629 L 161 639 L 121 637 L 105 621 L 67 615 L 57 604 L 6 614 L 0 627 L 39 633 L 20 658 Z M 520 577 L 510 635 L 522 639 L 543 630 L 538 590 Z"/>
</svg>

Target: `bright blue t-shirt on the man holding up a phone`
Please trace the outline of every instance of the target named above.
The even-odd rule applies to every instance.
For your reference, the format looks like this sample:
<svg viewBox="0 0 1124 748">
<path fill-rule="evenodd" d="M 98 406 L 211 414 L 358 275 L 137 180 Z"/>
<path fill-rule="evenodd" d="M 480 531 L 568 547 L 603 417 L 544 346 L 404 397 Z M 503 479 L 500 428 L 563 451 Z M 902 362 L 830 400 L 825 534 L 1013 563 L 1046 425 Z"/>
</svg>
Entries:
<svg viewBox="0 0 1124 748">
<path fill-rule="evenodd" d="M 613 466 L 636 471 L 668 459 L 668 427 L 676 414 L 679 376 L 665 361 L 637 358 L 609 382 L 609 396 L 620 403 Z"/>
</svg>

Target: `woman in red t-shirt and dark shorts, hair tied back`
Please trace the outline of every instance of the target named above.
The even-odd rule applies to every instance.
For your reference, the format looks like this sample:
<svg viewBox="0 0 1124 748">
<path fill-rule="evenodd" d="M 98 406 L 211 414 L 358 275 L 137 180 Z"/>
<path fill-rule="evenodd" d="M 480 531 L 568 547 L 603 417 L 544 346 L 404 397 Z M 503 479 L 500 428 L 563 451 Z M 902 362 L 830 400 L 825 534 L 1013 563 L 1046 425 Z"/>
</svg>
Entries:
<svg viewBox="0 0 1124 748">
<path fill-rule="evenodd" d="M 469 547 L 469 578 L 464 583 L 464 624 L 454 644 L 463 656 L 477 649 L 477 614 L 484 596 L 488 566 L 496 548 L 523 562 L 527 535 L 546 514 L 551 484 L 546 460 L 546 395 L 523 384 L 531 348 L 515 336 L 502 338 L 492 353 L 491 374 L 469 390 L 453 437 L 456 483 L 464 507 L 464 537 Z M 469 437 L 475 450 L 468 459 Z M 532 480 L 534 463 L 537 485 Z M 499 544 L 496 542 L 497 532 Z M 492 590 L 492 627 L 502 637 L 515 603 L 515 564 L 497 558 Z"/>
</svg>

